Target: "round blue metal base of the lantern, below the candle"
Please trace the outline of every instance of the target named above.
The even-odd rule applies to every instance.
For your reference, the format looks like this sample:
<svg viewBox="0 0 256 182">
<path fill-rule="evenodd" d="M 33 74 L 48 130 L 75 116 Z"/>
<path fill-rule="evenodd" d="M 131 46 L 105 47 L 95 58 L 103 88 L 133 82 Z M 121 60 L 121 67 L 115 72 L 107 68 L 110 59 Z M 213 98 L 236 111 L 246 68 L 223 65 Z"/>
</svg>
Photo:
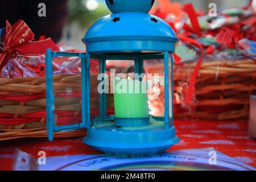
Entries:
<svg viewBox="0 0 256 182">
<path fill-rule="evenodd" d="M 179 142 L 179 138 L 175 135 L 174 126 L 169 130 L 123 130 L 110 126 L 88 129 L 83 142 L 105 154 L 137 156 L 164 152 Z"/>
</svg>

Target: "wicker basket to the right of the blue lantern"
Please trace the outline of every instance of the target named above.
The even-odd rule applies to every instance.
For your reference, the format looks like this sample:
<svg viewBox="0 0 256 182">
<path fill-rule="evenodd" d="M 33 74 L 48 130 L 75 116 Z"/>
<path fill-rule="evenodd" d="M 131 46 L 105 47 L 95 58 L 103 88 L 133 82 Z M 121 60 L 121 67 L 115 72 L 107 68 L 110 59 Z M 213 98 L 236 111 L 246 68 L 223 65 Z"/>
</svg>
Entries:
<svg viewBox="0 0 256 182">
<path fill-rule="evenodd" d="M 174 64 L 174 118 L 225 121 L 249 117 L 249 96 L 256 94 L 256 60 L 204 61 L 196 80 L 191 105 L 185 103 L 188 82 L 195 62 Z M 151 65 L 150 73 L 163 72 Z M 163 105 L 155 103 L 155 107 Z"/>
</svg>

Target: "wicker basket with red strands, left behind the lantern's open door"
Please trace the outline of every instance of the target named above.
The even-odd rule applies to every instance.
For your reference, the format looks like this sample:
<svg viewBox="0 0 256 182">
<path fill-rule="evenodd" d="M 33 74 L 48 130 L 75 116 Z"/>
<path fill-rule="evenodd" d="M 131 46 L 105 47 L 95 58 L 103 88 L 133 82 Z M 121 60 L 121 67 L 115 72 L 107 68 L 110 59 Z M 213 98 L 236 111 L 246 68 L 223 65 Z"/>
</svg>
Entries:
<svg viewBox="0 0 256 182">
<path fill-rule="evenodd" d="M 0 140 L 47 137 L 46 82 L 44 77 L 0 78 Z M 91 88 L 97 87 L 91 76 Z M 69 92 L 67 94 L 67 88 Z M 57 125 L 81 122 L 81 76 L 53 76 Z M 113 107 L 113 96 L 108 97 Z M 91 110 L 98 109 L 98 94 L 91 94 Z M 97 114 L 97 111 L 94 111 Z M 93 114 L 94 114 L 93 113 Z M 85 129 L 55 133 L 56 138 L 85 136 Z"/>
</svg>

